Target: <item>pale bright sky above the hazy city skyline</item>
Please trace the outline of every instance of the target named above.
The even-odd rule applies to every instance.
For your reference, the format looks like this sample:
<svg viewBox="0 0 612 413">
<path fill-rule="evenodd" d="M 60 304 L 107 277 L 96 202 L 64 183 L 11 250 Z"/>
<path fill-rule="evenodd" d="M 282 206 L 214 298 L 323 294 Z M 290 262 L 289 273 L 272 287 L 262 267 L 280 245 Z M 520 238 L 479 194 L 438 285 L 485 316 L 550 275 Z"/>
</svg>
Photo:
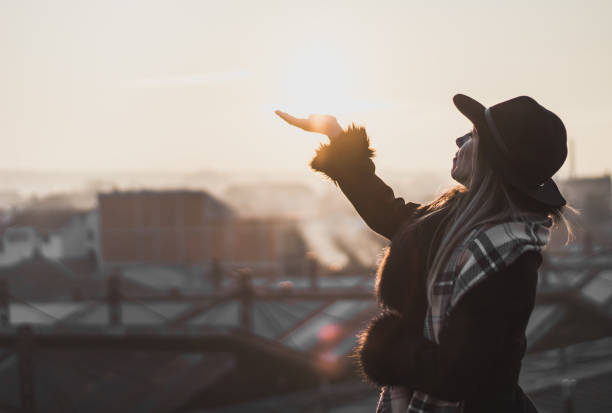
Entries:
<svg viewBox="0 0 612 413">
<path fill-rule="evenodd" d="M 365 125 L 379 168 L 449 169 L 461 92 L 534 97 L 601 174 L 611 21 L 609 0 L 0 0 L 0 169 L 306 170 L 326 138 L 274 109 Z"/>
</svg>

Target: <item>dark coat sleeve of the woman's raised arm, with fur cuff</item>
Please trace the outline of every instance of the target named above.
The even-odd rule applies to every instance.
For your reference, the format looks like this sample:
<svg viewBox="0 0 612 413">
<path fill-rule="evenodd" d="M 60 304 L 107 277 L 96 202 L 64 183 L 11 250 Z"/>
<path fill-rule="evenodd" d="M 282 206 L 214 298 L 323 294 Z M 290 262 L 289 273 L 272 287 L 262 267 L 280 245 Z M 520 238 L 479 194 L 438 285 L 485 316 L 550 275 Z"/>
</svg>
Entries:
<svg viewBox="0 0 612 413">
<path fill-rule="evenodd" d="M 365 223 L 390 240 L 419 204 L 395 197 L 375 174 L 373 156 L 365 128 L 352 125 L 321 145 L 310 166 L 338 185 Z"/>
</svg>

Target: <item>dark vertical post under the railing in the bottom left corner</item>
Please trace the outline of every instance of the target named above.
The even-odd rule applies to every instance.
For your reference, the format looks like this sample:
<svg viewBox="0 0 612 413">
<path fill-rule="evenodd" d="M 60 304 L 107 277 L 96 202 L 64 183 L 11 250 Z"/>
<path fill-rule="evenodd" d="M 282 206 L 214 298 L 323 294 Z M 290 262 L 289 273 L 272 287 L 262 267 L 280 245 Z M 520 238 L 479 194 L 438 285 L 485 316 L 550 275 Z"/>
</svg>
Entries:
<svg viewBox="0 0 612 413">
<path fill-rule="evenodd" d="M 34 395 L 34 370 L 32 356 L 34 343 L 32 327 L 25 324 L 17 329 L 17 354 L 19 355 L 19 393 L 21 408 L 26 413 L 36 412 L 36 399 Z"/>
</svg>

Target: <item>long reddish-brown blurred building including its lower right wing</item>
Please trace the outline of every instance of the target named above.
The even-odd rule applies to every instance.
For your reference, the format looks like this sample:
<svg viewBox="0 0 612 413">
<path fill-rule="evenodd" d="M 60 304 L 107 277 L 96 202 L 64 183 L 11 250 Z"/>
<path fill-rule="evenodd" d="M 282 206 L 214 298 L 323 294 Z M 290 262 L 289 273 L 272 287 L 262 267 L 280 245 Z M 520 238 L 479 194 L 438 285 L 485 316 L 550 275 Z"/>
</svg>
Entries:
<svg viewBox="0 0 612 413">
<path fill-rule="evenodd" d="M 279 273 L 306 252 L 296 222 L 241 218 L 204 191 L 126 191 L 98 196 L 104 263 L 251 267 Z"/>
</svg>

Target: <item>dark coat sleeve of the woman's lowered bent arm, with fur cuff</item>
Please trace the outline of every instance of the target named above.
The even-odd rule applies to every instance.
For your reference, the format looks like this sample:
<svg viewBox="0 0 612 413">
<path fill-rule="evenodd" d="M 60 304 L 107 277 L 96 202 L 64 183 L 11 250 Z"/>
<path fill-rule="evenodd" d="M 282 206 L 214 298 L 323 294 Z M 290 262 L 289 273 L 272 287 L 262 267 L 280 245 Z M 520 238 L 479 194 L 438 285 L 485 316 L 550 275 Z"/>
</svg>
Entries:
<svg viewBox="0 0 612 413">
<path fill-rule="evenodd" d="M 360 349 L 364 373 L 379 385 L 403 385 L 441 400 L 460 401 L 511 389 L 525 351 L 525 329 L 535 302 L 538 252 L 523 253 L 490 274 L 456 304 L 439 344 L 379 317 Z"/>
</svg>

